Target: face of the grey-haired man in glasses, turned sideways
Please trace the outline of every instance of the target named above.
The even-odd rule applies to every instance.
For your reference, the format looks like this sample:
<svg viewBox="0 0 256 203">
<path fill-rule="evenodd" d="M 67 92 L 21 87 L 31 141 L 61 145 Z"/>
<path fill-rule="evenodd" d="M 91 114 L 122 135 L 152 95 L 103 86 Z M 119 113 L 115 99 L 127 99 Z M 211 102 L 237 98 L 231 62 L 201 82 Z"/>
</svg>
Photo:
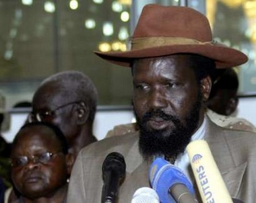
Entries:
<svg viewBox="0 0 256 203">
<path fill-rule="evenodd" d="M 69 104 L 75 101 L 74 98 L 69 98 L 69 94 L 63 92 L 59 85 L 48 83 L 43 85 L 36 91 L 32 101 L 32 112 L 44 115 L 46 112 L 53 111 L 50 116 L 44 117 L 42 121 L 50 122 L 58 126 L 63 134 L 65 134 L 68 143 L 71 143 L 77 134 L 77 125 L 73 115 L 74 104 Z M 63 108 L 59 108 L 64 106 Z M 56 108 L 59 108 L 55 110 Z"/>
</svg>

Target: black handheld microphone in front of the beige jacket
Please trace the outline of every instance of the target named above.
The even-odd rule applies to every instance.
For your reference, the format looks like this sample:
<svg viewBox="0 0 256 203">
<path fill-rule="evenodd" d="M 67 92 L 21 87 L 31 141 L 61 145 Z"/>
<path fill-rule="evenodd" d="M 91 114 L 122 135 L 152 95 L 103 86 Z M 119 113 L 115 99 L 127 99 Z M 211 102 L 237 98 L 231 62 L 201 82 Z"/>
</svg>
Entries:
<svg viewBox="0 0 256 203">
<path fill-rule="evenodd" d="M 119 186 L 125 177 L 125 159 L 117 152 L 106 156 L 102 164 L 102 203 L 114 203 L 117 197 Z"/>
</svg>

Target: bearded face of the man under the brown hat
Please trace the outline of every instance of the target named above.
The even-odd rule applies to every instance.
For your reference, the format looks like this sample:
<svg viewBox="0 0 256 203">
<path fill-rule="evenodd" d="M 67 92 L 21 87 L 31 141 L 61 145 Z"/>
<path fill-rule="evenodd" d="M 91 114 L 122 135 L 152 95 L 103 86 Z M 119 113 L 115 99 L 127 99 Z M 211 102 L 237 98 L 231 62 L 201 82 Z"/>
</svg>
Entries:
<svg viewBox="0 0 256 203">
<path fill-rule="evenodd" d="M 176 158 L 198 128 L 201 91 L 188 56 L 139 59 L 133 67 L 133 104 L 145 158 Z"/>
</svg>

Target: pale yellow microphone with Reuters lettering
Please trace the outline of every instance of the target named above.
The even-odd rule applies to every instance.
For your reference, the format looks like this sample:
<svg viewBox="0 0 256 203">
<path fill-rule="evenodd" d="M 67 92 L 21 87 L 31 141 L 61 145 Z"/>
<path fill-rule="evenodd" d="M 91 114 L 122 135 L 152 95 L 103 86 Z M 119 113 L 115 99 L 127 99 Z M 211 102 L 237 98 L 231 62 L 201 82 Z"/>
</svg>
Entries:
<svg viewBox="0 0 256 203">
<path fill-rule="evenodd" d="M 203 203 L 232 203 L 230 194 L 206 141 L 195 140 L 189 143 L 187 153 Z"/>
</svg>

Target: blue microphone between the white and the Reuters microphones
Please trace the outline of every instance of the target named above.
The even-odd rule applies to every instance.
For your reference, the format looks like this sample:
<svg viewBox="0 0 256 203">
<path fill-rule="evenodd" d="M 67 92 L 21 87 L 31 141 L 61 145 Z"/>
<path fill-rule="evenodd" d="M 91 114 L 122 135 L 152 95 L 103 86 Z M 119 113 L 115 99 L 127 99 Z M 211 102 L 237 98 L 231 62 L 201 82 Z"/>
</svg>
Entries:
<svg viewBox="0 0 256 203">
<path fill-rule="evenodd" d="M 194 190 L 186 175 L 159 157 L 150 165 L 150 184 L 162 203 L 195 203 Z"/>
</svg>

